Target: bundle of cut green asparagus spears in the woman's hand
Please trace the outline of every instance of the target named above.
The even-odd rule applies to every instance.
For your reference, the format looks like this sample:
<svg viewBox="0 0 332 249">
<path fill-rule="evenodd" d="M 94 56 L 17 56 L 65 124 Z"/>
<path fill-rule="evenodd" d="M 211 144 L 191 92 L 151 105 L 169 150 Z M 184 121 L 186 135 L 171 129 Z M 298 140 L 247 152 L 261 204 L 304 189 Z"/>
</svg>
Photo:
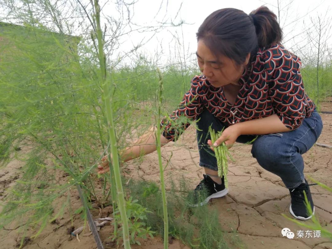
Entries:
<svg viewBox="0 0 332 249">
<path fill-rule="evenodd" d="M 223 131 L 223 129 L 216 133 L 214 131 L 214 129 L 212 129 L 211 126 L 209 126 L 209 132 L 210 132 L 212 144 L 214 144 L 214 142 L 217 140 L 217 138 L 221 136 L 222 131 Z M 231 154 L 229 153 L 225 142 L 222 142 L 217 147 L 214 147 L 214 153 L 215 153 L 215 157 L 217 158 L 218 176 L 220 176 L 220 177 L 224 176 L 225 187 L 228 189 L 228 181 L 227 181 L 228 161 L 227 161 L 227 155 L 229 156 L 229 158 L 232 161 L 234 161 L 234 159 L 231 156 Z"/>
</svg>

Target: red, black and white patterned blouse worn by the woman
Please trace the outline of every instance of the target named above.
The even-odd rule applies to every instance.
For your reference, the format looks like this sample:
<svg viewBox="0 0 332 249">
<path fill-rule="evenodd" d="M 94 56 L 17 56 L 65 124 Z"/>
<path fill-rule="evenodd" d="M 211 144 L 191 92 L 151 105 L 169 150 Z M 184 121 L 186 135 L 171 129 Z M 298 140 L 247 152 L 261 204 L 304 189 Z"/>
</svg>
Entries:
<svg viewBox="0 0 332 249">
<path fill-rule="evenodd" d="M 283 124 L 296 129 L 315 108 L 304 92 L 300 66 L 299 57 L 280 44 L 258 49 L 239 80 L 242 88 L 233 106 L 227 102 L 223 87 L 213 87 L 204 75 L 195 76 L 178 109 L 160 122 L 163 136 L 176 140 L 190 125 L 180 117 L 195 120 L 204 108 L 226 125 L 276 113 Z"/>
</svg>

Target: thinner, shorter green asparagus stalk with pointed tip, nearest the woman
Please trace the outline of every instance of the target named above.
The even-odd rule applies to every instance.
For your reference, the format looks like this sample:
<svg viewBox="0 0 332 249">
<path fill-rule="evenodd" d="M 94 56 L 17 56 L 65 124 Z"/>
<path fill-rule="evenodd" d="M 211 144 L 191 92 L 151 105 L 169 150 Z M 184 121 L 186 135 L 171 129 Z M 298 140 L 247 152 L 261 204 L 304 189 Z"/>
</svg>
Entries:
<svg viewBox="0 0 332 249">
<path fill-rule="evenodd" d="M 161 114 L 161 104 L 162 104 L 162 92 L 163 92 L 163 78 L 159 68 L 157 68 L 159 76 L 159 91 L 158 91 L 158 116 L 156 117 L 157 124 L 157 153 L 158 153 L 158 162 L 160 170 L 160 184 L 161 184 L 161 193 L 163 198 L 163 210 L 164 210 L 164 249 L 168 248 L 168 214 L 167 214 L 167 200 L 166 200 L 166 189 L 164 181 L 164 168 L 161 161 L 161 144 L 160 144 L 160 114 Z"/>
</svg>

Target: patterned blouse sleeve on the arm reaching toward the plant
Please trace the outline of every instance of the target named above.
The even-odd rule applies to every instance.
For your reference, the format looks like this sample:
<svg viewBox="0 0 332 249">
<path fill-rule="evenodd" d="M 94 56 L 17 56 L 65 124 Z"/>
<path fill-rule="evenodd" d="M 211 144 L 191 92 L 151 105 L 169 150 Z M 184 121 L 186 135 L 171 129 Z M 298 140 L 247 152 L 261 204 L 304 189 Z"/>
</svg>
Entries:
<svg viewBox="0 0 332 249">
<path fill-rule="evenodd" d="M 189 127 L 202 112 L 202 101 L 198 95 L 200 91 L 200 76 L 195 76 L 191 81 L 191 88 L 184 94 L 178 108 L 169 117 L 164 117 L 160 122 L 162 135 L 171 141 L 176 141 L 182 132 Z"/>
</svg>

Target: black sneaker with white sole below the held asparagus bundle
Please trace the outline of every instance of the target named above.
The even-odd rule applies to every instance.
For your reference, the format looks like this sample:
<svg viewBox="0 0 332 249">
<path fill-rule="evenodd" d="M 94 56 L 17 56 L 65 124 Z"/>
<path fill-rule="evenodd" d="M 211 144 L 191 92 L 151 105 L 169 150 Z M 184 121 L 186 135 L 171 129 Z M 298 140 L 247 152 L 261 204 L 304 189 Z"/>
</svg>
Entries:
<svg viewBox="0 0 332 249">
<path fill-rule="evenodd" d="M 190 207 L 198 207 L 207 204 L 212 198 L 223 197 L 228 193 L 225 188 L 224 177 L 221 178 L 221 184 L 215 183 L 208 175 L 203 175 L 203 180 L 189 194 Z"/>
</svg>

